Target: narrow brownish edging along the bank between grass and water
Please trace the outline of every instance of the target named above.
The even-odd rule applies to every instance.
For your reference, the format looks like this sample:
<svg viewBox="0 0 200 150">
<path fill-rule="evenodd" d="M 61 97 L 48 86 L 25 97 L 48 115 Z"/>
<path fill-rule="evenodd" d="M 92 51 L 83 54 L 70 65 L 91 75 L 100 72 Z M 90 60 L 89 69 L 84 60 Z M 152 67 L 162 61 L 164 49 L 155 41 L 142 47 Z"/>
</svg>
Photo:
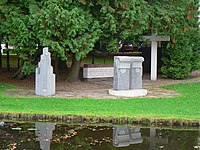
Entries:
<svg viewBox="0 0 200 150">
<path fill-rule="evenodd" d="M 176 119 L 145 119 L 127 117 L 96 117 L 84 115 L 47 115 L 47 114 L 25 114 L 25 113 L 0 113 L 0 120 L 9 121 L 44 121 L 57 123 L 89 123 L 89 124 L 112 124 L 112 125 L 136 125 L 136 126 L 158 126 L 158 127 L 200 127 L 198 120 L 176 120 Z"/>
</svg>

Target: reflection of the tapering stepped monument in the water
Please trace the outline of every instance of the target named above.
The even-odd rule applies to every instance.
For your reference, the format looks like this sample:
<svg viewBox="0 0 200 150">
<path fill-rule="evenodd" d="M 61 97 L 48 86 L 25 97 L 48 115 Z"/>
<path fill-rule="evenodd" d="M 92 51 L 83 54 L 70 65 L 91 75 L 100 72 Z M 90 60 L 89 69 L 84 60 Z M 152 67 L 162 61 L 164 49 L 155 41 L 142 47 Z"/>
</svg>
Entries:
<svg viewBox="0 0 200 150">
<path fill-rule="evenodd" d="M 40 148 L 42 150 L 50 150 L 50 143 L 53 135 L 53 130 L 55 130 L 54 123 L 35 123 L 35 134 L 40 142 Z"/>
</svg>

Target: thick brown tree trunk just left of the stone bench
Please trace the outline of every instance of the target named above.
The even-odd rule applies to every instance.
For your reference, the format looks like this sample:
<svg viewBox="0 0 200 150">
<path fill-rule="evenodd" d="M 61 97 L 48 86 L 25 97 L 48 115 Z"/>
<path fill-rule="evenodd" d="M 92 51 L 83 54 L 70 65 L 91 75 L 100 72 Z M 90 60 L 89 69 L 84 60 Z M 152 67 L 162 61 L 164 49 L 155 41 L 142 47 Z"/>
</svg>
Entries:
<svg viewBox="0 0 200 150">
<path fill-rule="evenodd" d="M 67 81 L 76 82 L 80 81 L 79 72 L 80 72 L 81 60 L 77 60 L 75 55 L 72 56 L 72 64 L 69 72 L 67 73 Z"/>
</svg>

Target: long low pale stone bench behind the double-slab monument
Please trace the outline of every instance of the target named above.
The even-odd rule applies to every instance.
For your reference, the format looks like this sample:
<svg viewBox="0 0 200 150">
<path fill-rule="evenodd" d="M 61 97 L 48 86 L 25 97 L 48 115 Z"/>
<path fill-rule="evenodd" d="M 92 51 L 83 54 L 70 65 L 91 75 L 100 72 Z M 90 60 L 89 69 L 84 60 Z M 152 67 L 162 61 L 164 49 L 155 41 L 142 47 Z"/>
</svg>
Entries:
<svg viewBox="0 0 200 150">
<path fill-rule="evenodd" d="M 114 67 L 109 64 L 84 64 L 83 78 L 112 78 L 114 76 Z"/>
</svg>

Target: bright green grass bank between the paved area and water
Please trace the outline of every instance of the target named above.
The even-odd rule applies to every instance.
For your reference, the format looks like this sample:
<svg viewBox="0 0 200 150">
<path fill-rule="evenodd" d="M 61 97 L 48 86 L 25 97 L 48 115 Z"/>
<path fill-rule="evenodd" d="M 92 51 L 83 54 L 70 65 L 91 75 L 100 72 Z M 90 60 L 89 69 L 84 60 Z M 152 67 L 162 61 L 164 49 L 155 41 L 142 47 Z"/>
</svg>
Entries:
<svg viewBox="0 0 200 150">
<path fill-rule="evenodd" d="M 181 93 L 175 98 L 13 98 L 3 95 L 3 91 L 10 88 L 16 87 L 0 84 L 0 113 L 200 120 L 200 82 L 162 87 Z"/>
</svg>

